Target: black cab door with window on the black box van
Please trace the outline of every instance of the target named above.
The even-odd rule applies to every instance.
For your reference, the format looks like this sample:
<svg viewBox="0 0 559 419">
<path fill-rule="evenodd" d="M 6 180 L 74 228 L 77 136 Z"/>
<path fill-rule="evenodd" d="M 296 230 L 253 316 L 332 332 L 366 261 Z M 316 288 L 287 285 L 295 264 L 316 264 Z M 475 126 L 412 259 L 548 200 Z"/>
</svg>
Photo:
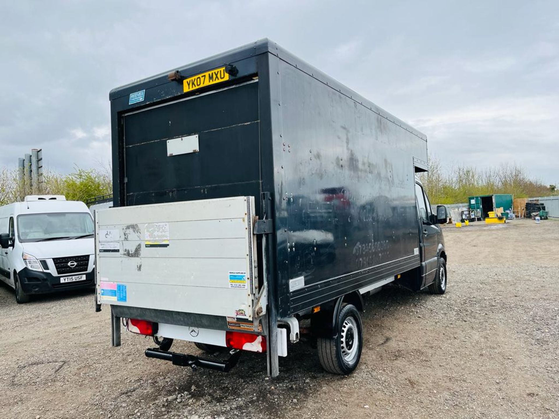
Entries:
<svg viewBox="0 0 559 419">
<path fill-rule="evenodd" d="M 421 184 L 415 184 L 415 199 L 419 212 L 421 249 L 421 288 L 429 285 L 437 273 L 439 226 L 434 223 L 431 205 Z"/>
</svg>

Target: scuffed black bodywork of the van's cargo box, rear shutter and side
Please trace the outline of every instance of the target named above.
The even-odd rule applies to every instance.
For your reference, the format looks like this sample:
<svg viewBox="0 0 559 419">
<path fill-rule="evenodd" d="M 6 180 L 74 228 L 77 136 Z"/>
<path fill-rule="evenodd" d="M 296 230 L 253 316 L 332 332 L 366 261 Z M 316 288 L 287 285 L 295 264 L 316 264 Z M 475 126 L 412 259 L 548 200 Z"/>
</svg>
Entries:
<svg viewBox="0 0 559 419">
<path fill-rule="evenodd" d="M 268 40 L 178 70 L 224 63 L 238 75 L 200 91 L 161 74 L 111 92 L 114 205 L 254 196 L 262 218 L 269 192 L 280 316 L 419 266 L 413 158 L 427 160 L 425 136 Z M 192 134 L 198 153 L 167 156 L 167 139 Z M 306 288 L 290 293 L 299 276 Z"/>
</svg>

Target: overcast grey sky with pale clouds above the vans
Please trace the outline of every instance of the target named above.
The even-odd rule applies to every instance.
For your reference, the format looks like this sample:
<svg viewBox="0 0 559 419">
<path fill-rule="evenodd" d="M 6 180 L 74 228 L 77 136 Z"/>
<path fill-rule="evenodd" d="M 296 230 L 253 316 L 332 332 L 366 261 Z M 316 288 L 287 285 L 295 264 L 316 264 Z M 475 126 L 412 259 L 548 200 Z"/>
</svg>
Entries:
<svg viewBox="0 0 559 419">
<path fill-rule="evenodd" d="M 108 92 L 268 37 L 428 136 L 443 165 L 559 183 L 559 1 L 0 4 L 0 168 L 110 160 Z"/>
</svg>

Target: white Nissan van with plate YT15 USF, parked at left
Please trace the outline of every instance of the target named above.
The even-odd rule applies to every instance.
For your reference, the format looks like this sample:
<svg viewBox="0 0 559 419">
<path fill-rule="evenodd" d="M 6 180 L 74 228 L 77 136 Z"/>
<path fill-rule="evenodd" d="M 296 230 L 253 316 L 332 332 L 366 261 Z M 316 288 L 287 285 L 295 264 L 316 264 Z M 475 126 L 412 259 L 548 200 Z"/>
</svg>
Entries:
<svg viewBox="0 0 559 419">
<path fill-rule="evenodd" d="M 0 207 L 0 279 L 31 294 L 94 287 L 93 218 L 83 202 L 26 196 Z"/>
</svg>

